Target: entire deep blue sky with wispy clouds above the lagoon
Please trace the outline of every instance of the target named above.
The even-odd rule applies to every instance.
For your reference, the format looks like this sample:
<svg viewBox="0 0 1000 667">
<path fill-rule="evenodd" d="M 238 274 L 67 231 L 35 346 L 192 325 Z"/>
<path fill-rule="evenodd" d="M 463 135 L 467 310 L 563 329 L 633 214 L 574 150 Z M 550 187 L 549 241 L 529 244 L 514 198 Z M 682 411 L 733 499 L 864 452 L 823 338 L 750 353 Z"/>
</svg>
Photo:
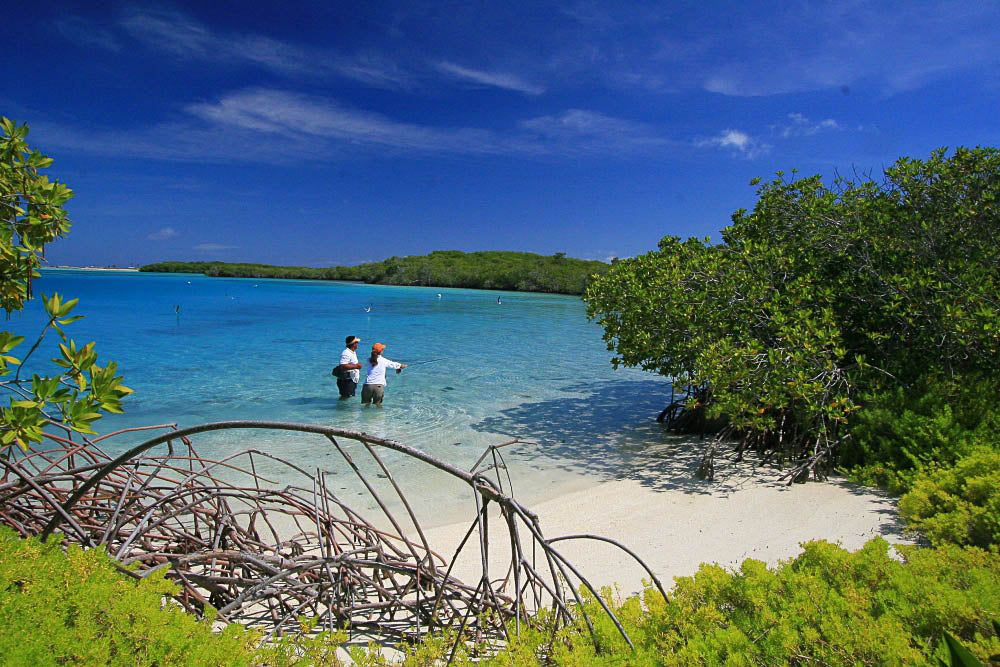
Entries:
<svg viewBox="0 0 1000 667">
<path fill-rule="evenodd" d="M 0 114 L 76 191 L 52 264 L 608 260 L 750 179 L 1000 144 L 1000 4 L 49 2 Z"/>
</svg>

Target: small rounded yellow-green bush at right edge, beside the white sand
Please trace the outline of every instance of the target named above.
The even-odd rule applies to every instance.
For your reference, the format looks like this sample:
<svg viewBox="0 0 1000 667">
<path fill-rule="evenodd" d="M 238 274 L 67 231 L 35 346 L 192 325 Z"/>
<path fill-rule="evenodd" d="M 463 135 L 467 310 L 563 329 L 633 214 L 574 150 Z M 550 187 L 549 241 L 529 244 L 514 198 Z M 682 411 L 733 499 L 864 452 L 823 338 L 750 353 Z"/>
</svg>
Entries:
<svg viewBox="0 0 1000 667">
<path fill-rule="evenodd" d="M 1000 451 L 981 448 L 918 476 L 899 509 L 935 545 L 1000 544 Z"/>
</svg>

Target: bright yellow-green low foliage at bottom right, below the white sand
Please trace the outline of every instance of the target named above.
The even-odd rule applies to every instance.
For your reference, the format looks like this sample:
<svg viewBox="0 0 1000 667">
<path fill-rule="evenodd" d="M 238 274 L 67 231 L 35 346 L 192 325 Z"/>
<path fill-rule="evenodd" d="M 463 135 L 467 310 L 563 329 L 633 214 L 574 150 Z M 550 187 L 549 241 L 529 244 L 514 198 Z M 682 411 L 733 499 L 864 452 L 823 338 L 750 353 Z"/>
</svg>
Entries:
<svg viewBox="0 0 1000 667">
<path fill-rule="evenodd" d="M 995 551 L 903 548 L 872 540 L 856 553 L 810 542 L 797 558 L 769 570 L 747 560 L 738 572 L 702 565 L 677 579 L 669 602 L 652 588 L 615 605 L 635 643 L 630 649 L 596 601 L 586 626 L 531 630 L 486 664 L 935 664 L 947 661 L 944 633 L 987 663 L 1000 653 L 992 621 L 1000 618 L 1000 559 Z M 604 592 L 611 600 L 610 590 Z M 436 653 L 435 653 L 436 647 Z M 429 640 L 405 664 L 447 657 Z M 384 664 L 369 655 L 360 664 Z"/>
</svg>

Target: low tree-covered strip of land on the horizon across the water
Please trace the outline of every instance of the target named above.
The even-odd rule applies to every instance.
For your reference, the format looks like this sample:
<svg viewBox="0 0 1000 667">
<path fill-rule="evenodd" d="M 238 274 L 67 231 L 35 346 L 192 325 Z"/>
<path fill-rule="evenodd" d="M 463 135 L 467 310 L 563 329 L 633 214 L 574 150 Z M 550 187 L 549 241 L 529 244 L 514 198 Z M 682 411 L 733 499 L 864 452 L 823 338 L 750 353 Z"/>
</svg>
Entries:
<svg viewBox="0 0 1000 667">
<path fill-rule="evenodd" d="M 203 273 L 228 278 L 291 278 L 350 280 L 377 285 L 422 285 L 582 294 L 595 274 L 609 264 L 574 259 L 565 253 L 536 255 L 530 252 L 470 252 L 436 250 L 429 255 L 390 257 L 357 266 L 313 268 L 229 262 L 158 262 L 139 267 L 158 273 Z"/>
</svg>

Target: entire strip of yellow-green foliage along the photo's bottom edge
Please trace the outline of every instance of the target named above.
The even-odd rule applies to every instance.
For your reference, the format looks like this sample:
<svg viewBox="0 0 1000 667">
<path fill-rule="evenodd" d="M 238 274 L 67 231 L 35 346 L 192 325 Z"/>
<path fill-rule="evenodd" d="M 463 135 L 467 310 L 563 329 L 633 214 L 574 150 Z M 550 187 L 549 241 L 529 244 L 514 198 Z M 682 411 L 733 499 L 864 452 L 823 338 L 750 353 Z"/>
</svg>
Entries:
<svg viewBox="0 0 1000 667">
<path fill-rule="evenodd" d="M 500 665 L 930 664 L 947 659 L 944 633 L 986 663 L 1000 653 L 997 551 L 948 545 L 900 548 L 876 538 L 856 553 L 810 542 L 797 558 L 768 569 L 747 560 L 738 572 L 702 565 L 680 577 L 664 601 L 612 603 L 635 649 L 595 600 L 582 620 L 551 632 L 522 625 L 522 637 L 481 661 Z M 285 638 L 256 648 L 259 634 L 210 624 L 164 605 L 174 585 L 160 576 L 134 581 L 103 551 L 20 540 L 0 529 L 0 659 L 6 664 L 336 664 L 343 636 Z M 407 665 L 449 656 L 446 638 L 411 647 Z M 377 651 L 355 649 L 361 665 L 382 665 Z M 471 664 L 460 651 L 456 663 Z"/>
</svg>

